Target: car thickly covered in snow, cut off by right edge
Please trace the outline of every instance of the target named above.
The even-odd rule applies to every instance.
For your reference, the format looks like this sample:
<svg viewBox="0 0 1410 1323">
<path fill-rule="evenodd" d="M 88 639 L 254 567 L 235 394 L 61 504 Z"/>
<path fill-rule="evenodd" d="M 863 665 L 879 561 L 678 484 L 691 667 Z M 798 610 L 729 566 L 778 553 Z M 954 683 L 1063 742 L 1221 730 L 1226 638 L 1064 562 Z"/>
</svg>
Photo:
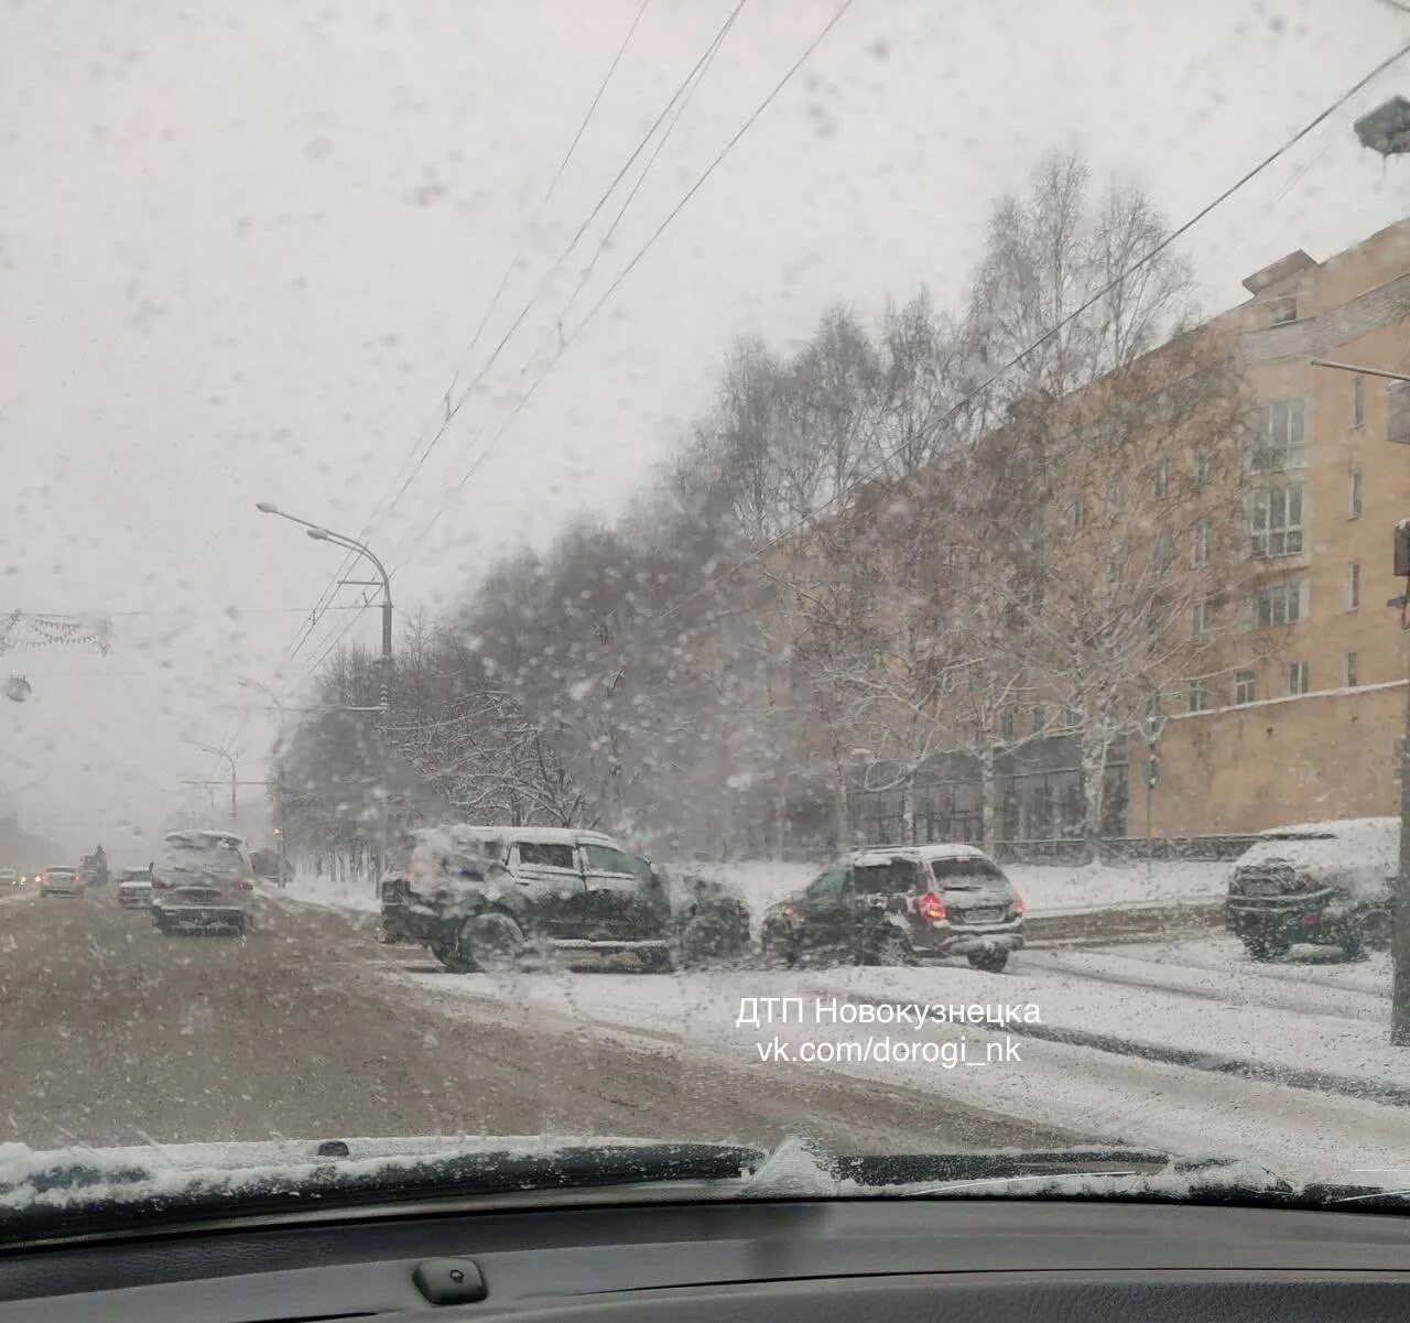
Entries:
<svg viewBox="0 0 1410 1323">
<path fill-rule="evenodd" d="M 1348 959 L 1390 946 L 1399 818 L 1304 822 L 1259 832 L 1234 863 L 1224 922 L 1255 961 L 1296 942 Z"/>
</svg>

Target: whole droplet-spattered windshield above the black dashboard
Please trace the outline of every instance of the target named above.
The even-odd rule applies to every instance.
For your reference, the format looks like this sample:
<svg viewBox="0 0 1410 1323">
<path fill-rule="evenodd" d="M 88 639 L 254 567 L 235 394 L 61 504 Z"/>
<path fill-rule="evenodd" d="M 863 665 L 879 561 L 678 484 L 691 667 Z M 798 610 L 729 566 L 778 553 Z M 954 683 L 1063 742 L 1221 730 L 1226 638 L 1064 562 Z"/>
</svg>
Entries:
<svg viewBox="0 0 1410 1323">
<path fill-rule="evenodd" d="M 7 6 L 0 1166 L 1410 1185 L 1407 6 Z"/>
</svg>

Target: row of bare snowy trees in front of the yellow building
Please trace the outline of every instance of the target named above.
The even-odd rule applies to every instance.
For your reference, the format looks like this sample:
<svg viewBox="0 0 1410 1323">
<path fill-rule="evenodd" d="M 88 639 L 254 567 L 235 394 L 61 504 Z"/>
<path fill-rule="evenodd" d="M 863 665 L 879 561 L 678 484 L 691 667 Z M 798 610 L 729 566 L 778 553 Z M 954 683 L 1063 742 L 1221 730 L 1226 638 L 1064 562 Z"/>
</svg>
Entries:
<svg viewBox="0 0 1410 1323">
<path fill-rule="evenodd" d="M 1237 346 L 1191 326 L 1173 250 L 1117 278 L 1165 234 L 1055 155 L 993 209 L 964 306 L 739 340 L 622 519 L 412 622 L 385 724 L 299 728 L 290 832 L 365 839 L 385 740 L 468 819 L 712 853 L 842 846 L 877 791 L 909 836 L 918 777 L 960 757 L 993 843 L 1005 757 L 1060 726 L 1098 849 L 1105 769 L 1220 670 L 1248 568 Z M 376 701 L 360 650 L 317 683 Z"/>
</svg>

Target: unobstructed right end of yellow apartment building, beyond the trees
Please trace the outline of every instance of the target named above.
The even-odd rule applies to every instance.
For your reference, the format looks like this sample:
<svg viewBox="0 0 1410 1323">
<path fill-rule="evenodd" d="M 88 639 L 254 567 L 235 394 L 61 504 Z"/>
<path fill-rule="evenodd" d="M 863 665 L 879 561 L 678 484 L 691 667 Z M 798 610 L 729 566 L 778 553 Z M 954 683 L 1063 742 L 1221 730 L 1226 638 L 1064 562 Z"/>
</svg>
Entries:
<svg viewBox="0 0 1410 1323">
<path fill-rule="evenodd" d="M 1248 832 L 1396 812 L 1410 633 L 1387 601 L 1410 515 L 1410 219 L 1323 262 L 1251 275 L 1239 357 L 1256 401 L 1245 465 L 1255 580 L 1183 711 L 1167 704 L 1156 835 Z M 1221 319 L 1222 320 L 1222 319 Z M 1410 622 L 1410 616 L 1407 616 Z M 1191 622 L 1191 628 L 1197 622 Z M 1131 749 L 1131 834 L 1145 748 Z"/>
</svg>

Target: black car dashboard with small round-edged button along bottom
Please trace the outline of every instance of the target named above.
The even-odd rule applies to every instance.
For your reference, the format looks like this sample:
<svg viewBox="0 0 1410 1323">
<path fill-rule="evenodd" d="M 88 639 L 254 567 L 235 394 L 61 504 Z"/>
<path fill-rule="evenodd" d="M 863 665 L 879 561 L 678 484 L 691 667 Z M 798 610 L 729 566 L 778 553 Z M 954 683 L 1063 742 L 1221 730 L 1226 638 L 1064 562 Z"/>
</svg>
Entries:
<svg viewBox="0 0 1410 1323">
<path fill-rule="evenodd" d="M 565 1197 L 11 1250 L 0 1255 L 0 1323 L 1410 1317 L 1410 1219 L 1397 1214 Z"/>
</svg>

